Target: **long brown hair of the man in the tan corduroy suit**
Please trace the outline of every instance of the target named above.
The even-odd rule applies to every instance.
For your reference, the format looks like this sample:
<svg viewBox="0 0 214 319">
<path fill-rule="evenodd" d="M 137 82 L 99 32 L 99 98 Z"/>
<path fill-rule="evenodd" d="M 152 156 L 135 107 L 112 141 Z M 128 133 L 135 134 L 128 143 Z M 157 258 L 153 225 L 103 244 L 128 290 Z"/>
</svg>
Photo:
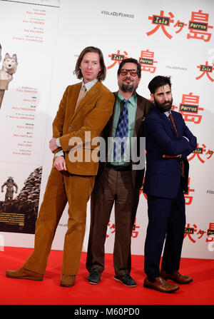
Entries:
<svg viewBox="0 0 214 319">
<path fill-rule="evenodd" d="M 98 53 L 100 57 L 101 71 L 99 71 L 97 79 L 99 81 L 104 81 L 106 79 L 106 65 L 103 59 L 103 54 L 101 49 L 98 49 L 95 46 L 87 46 L 85 49 L 83 49 L 83 51 L 81 51 L 81 54 L 78 56 L 78 59 L 76 61 L 76 67 L 75 67 L 75 70 L 73 71 L 73 74 L 76 74 L 77 79 L 83 78 L 83 74 L 79 67 L 81 65 L 81 61 L 83 60 L 83 56 L 87 54 L 88 52 Z"/>
</svg>

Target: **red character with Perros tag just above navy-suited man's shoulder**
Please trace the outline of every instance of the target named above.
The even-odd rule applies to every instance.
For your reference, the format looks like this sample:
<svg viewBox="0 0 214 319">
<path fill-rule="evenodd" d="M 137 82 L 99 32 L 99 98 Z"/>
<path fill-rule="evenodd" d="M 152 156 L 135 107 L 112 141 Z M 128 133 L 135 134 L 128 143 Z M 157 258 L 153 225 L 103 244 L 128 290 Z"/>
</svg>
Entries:
<svg viewBox="0 0 214 319">
<path fill-rule="evenodd" d="M 192 92 L 183 94 L 182 101 L 179 104 L 179 112 L 183 116 L 184 121 L 195 124 L 200 123 L 202 115 L 199 114 L 199 111 L 203 111 L 203 108 L 199 107 L 199 98 L 200 96 L 193 95 Z M 178 106 L 173 106 L 173 109 L 175 108 L 178 108 Z"/>
</svg>

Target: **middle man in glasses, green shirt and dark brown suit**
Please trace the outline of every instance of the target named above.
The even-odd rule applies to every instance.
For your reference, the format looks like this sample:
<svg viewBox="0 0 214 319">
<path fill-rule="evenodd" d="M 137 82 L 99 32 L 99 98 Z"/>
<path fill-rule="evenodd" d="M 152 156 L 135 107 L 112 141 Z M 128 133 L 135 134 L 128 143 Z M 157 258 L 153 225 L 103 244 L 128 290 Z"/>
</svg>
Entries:
<svg viewBox="0 0 214 319">
<path fill-rule="evenodd" d="M 136 93 L 140 81 L 141 65 L 138 61 L 136 59 L 121 61 L 118 68 L 119 90 L 114 93 L 113 116 L 102 133 L 108 145 L 106 152 L 108 158 L 105 163 L 100 163 L 91 195 L 91 229 L 86 268 L 89 272 L 88 283 L 92 284 L 101 281 L 106 231 L 114 204 L 116 226 L 113 250 L 114 279 L 128 287 L 136 286 L 136 281 L 130 275 L 131 233 L 144 176 L 143 120 L 153 106 L 151 101 Z M 123 141 L 119 146 L 118 140 Z"/>
</svg>

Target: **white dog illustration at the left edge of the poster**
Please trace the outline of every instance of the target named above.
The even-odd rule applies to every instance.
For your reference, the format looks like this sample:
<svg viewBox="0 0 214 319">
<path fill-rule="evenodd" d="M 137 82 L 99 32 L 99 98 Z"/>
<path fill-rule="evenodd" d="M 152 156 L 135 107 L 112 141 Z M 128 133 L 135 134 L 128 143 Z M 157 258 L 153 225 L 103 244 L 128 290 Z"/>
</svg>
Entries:
<svg viewBox="0 0 214 319">
<path fill-rule="evenodd" d="M 16 72 L 18 66 L 17 56 L 14 54 L 10 56 L 8 53 L 2 61 L 2 69 L 0 70 L 0 80 L 11 81 L 13 74 Z"/>
</svg>

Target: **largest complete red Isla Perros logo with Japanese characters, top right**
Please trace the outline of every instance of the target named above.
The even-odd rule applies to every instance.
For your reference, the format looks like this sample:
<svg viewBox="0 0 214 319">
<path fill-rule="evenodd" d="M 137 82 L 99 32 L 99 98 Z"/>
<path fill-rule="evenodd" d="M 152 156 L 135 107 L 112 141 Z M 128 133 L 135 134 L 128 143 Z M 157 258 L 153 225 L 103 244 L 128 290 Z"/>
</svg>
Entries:
<svg viewBox="0 0 214 319">
<path fill-rule="evenodd" d="M 151 20 L 152 24 L 156 25 L 156 27 L 151 31 L 146 32 L 146 34 L 151 36 L 161 28 L 165 36 L 167 36 L 168 39 L 172 39 L 173 36 L 168 32 L 169 30 L 167 31 L 165 28 L 170 28 L 170 24 L 174 23 L 174 17 L 172 12 L 169 12 L 168 16 L 164 15 L 163 10 L 161 10 L 160 15 L 153 14 L 153 16 L 148 16 L 148 19 Z M 198 12 L 193 11 L 189 24 L 185 24 L 185 22 L 180 21 L 180 19 L 176 21 L 173 25 L 174 28 L 178 28 L 178 30 L 175 31 L 175 34 L 179 34 L 185 26 L 188 26 L 190 33 L 187 34 L 187 39 L 200 39 L 208 42 L 212 36 L 212 34 L 208 32 L 208 29 L 213 29 L 213 26 L 209 26 L 208 19 L 209 14 L 203 13 L 202 10 L 198 10 Z"/>
</svg>

